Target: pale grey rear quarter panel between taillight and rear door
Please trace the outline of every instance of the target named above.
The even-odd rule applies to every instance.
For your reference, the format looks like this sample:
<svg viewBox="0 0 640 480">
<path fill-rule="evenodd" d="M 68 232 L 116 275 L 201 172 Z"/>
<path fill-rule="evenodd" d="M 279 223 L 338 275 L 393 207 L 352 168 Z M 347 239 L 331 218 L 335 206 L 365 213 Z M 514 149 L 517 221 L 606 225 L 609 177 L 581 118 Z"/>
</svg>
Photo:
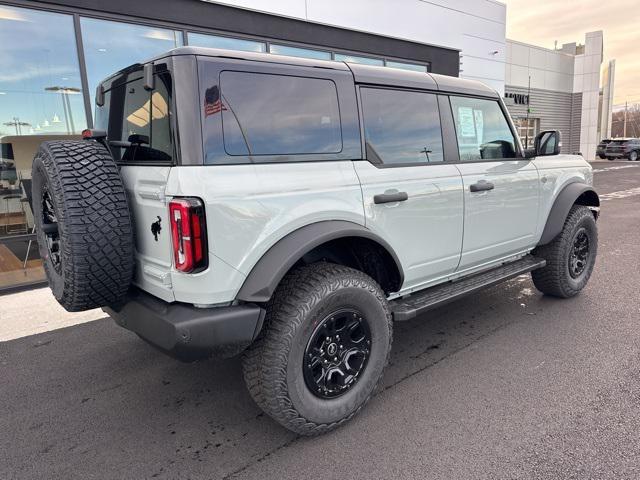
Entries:
<svg viewBox="0 0 640 480">
<path fill-rule="evenodd" d="M 209 252 L 222 268 L 210 265 L 197 282 L 172 272 L 182 302 L 232 301 L 264 253 L 300 227 L 324 220 L 364 225 L 351 161 L 175 167 L 166 194 L 203 200 Z"/>
</svg>

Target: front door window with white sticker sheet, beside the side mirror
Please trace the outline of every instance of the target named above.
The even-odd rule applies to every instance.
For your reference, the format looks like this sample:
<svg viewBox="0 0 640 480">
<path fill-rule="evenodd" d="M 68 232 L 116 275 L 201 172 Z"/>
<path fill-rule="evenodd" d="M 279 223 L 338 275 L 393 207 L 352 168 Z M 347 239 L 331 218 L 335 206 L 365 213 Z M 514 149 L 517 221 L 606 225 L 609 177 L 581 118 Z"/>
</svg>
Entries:
<svg viewBox="0 0 640 480">
<path fill-rule="evenodd" d="M 516 156 L 516 141 L 497 101 L 469 97 L 450 99 L 460 160 L 474 162 Z"/>
</svg>

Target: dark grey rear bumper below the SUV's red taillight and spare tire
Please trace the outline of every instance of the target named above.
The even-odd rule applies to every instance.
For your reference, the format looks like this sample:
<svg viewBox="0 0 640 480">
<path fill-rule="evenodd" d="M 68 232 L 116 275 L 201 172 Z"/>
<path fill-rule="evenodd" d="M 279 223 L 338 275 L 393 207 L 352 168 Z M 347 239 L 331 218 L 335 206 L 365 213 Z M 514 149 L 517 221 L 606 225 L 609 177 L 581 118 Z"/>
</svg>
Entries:
<svg viewBox="0 0 640 480">
<path fill-rule="evenodd" d="M 256 305 L 196 308 L 140 290 L 132 291 L 123 304 L 103 310 L 121 327 L 182 361 L 237 355 L 258 335 L 265 315 Z"/>
</svg>

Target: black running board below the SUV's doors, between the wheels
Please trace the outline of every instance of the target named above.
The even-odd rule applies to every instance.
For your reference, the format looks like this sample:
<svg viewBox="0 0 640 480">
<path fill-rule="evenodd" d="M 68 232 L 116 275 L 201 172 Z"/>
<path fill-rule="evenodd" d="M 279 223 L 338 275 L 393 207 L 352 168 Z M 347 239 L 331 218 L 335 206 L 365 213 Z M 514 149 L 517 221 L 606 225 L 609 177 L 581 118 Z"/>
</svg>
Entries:
<svg viewBox="0 0 640 480">
<path fill-rule="evenodd" d="M 421 313 L 439 307 L 460 297 L 491 287 L 510 278 L 517 277 L 546 265 L 546 261 L 532 255 L 506 263 L 489 271 L 477 273 L 470 277 L 436 285 L 426 290 L 391 301 L 393 319 L 396 321 L 411 320 Z"/>
</svg>

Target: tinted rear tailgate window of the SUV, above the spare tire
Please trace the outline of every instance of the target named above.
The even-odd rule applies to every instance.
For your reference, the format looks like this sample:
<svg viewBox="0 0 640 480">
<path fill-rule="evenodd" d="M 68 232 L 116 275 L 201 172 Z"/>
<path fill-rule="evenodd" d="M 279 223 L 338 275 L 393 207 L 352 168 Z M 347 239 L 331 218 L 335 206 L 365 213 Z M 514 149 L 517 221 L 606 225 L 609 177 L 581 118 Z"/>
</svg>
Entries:
<svg viewBox="0 0 640 480">
<path fill-rule="evenodd" d="M 143 80 L 137 79 L 105 94 L 105 106 L 97 111 L 96 125 L 108 121 L 108 138 L 116 160 L 172 159 L 171 92 L 171 76 L 160 73 L 155 76 L 152 91 L 145 90 Z M 114 141 L 121 143 L 114 145 Z"/>
</svg>

